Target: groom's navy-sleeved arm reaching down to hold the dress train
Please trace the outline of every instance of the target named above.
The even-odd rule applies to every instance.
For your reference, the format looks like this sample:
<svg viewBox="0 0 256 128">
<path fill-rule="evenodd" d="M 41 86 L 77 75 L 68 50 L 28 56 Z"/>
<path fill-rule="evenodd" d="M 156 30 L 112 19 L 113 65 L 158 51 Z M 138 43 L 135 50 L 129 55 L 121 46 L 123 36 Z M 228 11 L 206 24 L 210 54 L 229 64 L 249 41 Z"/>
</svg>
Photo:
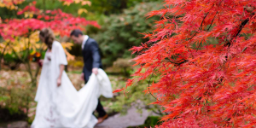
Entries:
<svg viewBox="0 0 256 128">
<path fill-rule="evenodd" d="M 101 55 L 99 46 L 96 42 L 91 42 L 90 51 L 92 55 L 92 68 L 99 68 L 101 65 Z"/>
</svg>

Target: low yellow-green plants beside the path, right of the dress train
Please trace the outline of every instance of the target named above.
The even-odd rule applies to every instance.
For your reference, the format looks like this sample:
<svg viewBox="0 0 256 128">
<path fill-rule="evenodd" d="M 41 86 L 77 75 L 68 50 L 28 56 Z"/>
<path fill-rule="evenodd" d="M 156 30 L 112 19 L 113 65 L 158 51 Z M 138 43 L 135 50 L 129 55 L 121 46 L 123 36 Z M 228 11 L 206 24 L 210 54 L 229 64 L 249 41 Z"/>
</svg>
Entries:
<svg viewBox="0 0 256 128">
<path fill-rule="evenodd" d="M 111 84 L 113 86 L 113 90 L 120 89 L 125 87 L 125 78 L 119 76 L 108 75 Z M 156 81 L 159 79 L 157 76 L 153 76 L 150 79 L 150 82 Z M 102 104 L 105 107 L 108 107 L 108 113 L 119 112 L 122 114 L 126 114 L 127 110 L 131 107 L 137 108 L 138 112 L 142 112 L 143 109 L 152 110 L 154 113 L 164 115 L 165 113 L 161 113 L 160 106 L 153 105 L 151 102 L 155 102 L 154 96 L 150 93 L 145 92 L 144 90 L 148 90 L 148 80 L 143 82 L 138 82 L 133 86 L 127 88 L 127 91 L 124 95 L 123 92 L 118 92 L 114 94 L 113 99 L 111 101 L 109 99 L 103 99 L 102 97 Z"/>
</svg>

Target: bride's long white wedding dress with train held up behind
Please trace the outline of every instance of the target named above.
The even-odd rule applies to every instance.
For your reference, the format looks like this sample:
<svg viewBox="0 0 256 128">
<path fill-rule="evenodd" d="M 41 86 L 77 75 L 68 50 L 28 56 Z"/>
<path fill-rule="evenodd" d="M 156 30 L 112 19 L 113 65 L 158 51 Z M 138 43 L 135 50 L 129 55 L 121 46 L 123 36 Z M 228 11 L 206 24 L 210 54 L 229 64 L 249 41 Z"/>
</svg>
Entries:
<svg viewBox="0 0 256 128">
<path fill-rule="evenodd" d="M 49 60 L 50 59 L 50 60 Z M 92 73 L 84 87 L 77 91 L 65 71 L 61 86 L 56 79 L 60 65 L 67 65 L 66 55 L 60 43 L 54 42 L 51 53 L 46 52 L 35 101 L 38 102 L 32 128 L 92 128 L 97 119 L 92 114 L 96 110 L 99 96 L 113 97 L 107 74 L 98 70 Z"/>
</svg>

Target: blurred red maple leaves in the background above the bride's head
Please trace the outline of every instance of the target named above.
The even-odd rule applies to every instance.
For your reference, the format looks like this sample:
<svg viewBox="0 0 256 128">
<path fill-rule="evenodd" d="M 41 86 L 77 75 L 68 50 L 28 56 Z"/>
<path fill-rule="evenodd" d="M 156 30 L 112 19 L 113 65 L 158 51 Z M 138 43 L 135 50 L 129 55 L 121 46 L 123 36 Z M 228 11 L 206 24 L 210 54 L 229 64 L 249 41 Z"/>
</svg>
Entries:
<svg viewBox="0 0 256 128">
<path fill-rule="evenodd" d="M 20 36 L 28 36 L 31 31 L 40 30 L 44 27 L 50 27 L 61 36 L 69 36 L 69 33 L 76 28 L 84 29 L 84 26 L 100 27 L 96 21 L 85 20 L 81 17 L 75 17 L 61 11 L 61 9 L 40 11 L 35 7 L 35 3 L 26 6 L 18 15 L 31 15 L 26 19 L 5 20 L 0 24 L 1 36 L 4 39 L 13 39 Z M 34 18 L 37 17 L 37 18 Z"/>
</svg>

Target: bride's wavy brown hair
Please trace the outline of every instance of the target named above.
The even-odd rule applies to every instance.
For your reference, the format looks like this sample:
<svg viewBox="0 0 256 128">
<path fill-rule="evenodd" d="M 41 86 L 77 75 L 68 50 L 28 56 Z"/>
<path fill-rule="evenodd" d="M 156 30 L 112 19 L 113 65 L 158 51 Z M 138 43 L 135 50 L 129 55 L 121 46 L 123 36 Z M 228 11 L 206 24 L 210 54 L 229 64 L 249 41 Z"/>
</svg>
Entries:
<svg viewBox="0 0 256 128">
<path fill-rule="evenodd" d="M 44 28 L 40 31 L 39 35 L 44 38 L 44 43 L 49 49 L 52 48 L 52 44 L 55 40 L 55 34 L 50 28 Z"/>
</svg>

